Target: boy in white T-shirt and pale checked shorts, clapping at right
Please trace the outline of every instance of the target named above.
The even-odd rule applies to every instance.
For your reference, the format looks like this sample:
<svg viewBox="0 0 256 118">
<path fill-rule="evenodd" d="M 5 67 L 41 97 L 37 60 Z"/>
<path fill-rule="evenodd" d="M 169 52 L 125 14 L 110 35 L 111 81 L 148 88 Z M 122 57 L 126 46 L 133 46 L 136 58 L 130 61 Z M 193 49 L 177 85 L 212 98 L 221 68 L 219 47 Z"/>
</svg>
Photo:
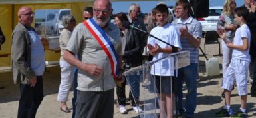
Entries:
<svg viewBox="0 0 256 118">
<path fill-rule="evenodd" d="M 238 7 L 235 9 L 235 23 L 240 27 L 235 31 L 235 37 L 233 42 L 225 38 L 225 31 L 218 30 L 217 33 L 226 43 L 227 47 L 233 49 L 231 63 L 227 68 L 225 75 L 223 76 L 222 87 L 225 90 L 225 102 L 226 105 L 220 112 L 216 113 L 217 116 L 221 114 L 231 115 L 231 117 L 240 118 L 248 117 L 246 111 L 247 102 L 247 74 L 250 63 L 249 47 L 251 41 L 251 33 L 249 27 L 246 25 L 248 19 L 248 11 L 245 7 Z M 237 84 L 238 95 L 241 96 L 240 109 L 232 114 L 230 99 L 231 89 L 234 84 Z"/>
</svg>

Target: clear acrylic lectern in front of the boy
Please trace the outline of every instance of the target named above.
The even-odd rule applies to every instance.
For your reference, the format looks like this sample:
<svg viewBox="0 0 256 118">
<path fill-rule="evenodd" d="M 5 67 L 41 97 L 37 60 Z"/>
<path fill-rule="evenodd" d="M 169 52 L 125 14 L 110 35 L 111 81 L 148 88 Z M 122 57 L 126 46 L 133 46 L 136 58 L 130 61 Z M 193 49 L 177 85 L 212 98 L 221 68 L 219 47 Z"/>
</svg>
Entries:
<svg viewBox="0 0 256 118">
<path fill-rule="evenodd" d="M 179 51 L 177 53 L 172 53 L 156 61 L 150 61 L 124 72 L 134 101 L 140 99 L 140 103 L 138 103 L 138 101 L 136 102 L 136 105 L 140 104 L 140 107 L 143 110 L 142 113 L 140 113 L 140 118 L 158 118 L 160 113 L 161 117 L 167 116 L 166 109 L 160 109 L 161 104 L 159 102 L 161 98 L 154 84 L 154 72 L 156 70 L 166 70 L 162 69 L 162 66 L 159 65 L 170 65 L 164 67 L 172 67 L 172 69 L 168 70 L 175 70 L 174 73 L 176 75 L 179 68 L 190 65 L 190 52 Z M 159 76 L 162 77 L 162 75 Z M 172 79 L 173 78 L 170 77 L 170 83 L 172 83 Z M 170 91 L 172 91 L 172 87 L 170 87 Z"/>
</svg>

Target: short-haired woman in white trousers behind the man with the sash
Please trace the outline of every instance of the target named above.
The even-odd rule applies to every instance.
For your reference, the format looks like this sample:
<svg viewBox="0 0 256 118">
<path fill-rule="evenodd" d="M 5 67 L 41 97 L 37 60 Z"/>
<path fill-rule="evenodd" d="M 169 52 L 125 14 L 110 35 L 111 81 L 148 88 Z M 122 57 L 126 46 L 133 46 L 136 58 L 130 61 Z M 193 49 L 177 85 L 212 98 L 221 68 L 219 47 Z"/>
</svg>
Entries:
<svg viewBox="0 0 256 118">
<path fill-rule="evenodd" d="M 76 19 L 72 15 L 65 15 L 62 17 L 62 23 L 64 25 L 63 31 L 61 31 L 59 37 L 60 44 L 60 59 L 59 66 L 61 68 L 61 83 L 59 85 L 59 93 L 57 95 L 57 101 L 61 102 L 60 110 L 65 113 L 70 113 L 70 109 L 67 107 L 68 94 L 70 93 L 70 87 L 73 83 L 74 77 L 74 67 L 70 65 L 63 58 L 64 52 L 66 51 L 66 46 L 70 40 L 72 31 L 76 26 Z"/>
</svg>

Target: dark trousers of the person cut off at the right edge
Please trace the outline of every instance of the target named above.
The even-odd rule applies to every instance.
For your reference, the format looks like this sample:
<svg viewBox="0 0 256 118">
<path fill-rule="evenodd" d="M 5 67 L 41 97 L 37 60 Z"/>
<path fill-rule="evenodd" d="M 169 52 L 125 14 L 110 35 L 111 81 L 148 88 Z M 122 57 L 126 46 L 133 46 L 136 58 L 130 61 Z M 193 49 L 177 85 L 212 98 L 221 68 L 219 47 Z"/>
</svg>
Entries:
<svg viewBox="0 0 256 118">
<path fill-rule="evenodd" d="M 256 97 L 256 57 L 251 57 L 250 63 L 250 75 L 253 79 L 253 84 L 251 85 L 251 97 Z"/>
</svg>

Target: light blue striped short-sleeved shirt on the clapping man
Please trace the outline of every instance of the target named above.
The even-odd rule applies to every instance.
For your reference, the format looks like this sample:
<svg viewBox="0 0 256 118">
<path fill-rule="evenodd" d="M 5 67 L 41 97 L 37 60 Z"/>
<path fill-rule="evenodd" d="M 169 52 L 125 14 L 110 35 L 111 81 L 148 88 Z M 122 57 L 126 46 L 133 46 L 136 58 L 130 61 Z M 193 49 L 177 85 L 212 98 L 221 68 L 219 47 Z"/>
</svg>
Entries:
<svg viewBox="0 0 256 118">
<path fill-rule="evenodd" d="M 202 25 L 193 17 L 189 17 L 186 21 L 182 21 L 181 19 L 176 19 L 172 22 L 172 25 L 175 26 L 177 29 L 180 27 L 188 27 L 188 31 L 193 37 L 201 38 L 202 37 Z M 188 43 L 188 39 L 183 37 L 181 40 L 182 50 L 183 51 L 190 51 L 190 63 L 198 63 L 199 62 L 199 49 L 193 47 L 192 44 Z"/>
</svg>

